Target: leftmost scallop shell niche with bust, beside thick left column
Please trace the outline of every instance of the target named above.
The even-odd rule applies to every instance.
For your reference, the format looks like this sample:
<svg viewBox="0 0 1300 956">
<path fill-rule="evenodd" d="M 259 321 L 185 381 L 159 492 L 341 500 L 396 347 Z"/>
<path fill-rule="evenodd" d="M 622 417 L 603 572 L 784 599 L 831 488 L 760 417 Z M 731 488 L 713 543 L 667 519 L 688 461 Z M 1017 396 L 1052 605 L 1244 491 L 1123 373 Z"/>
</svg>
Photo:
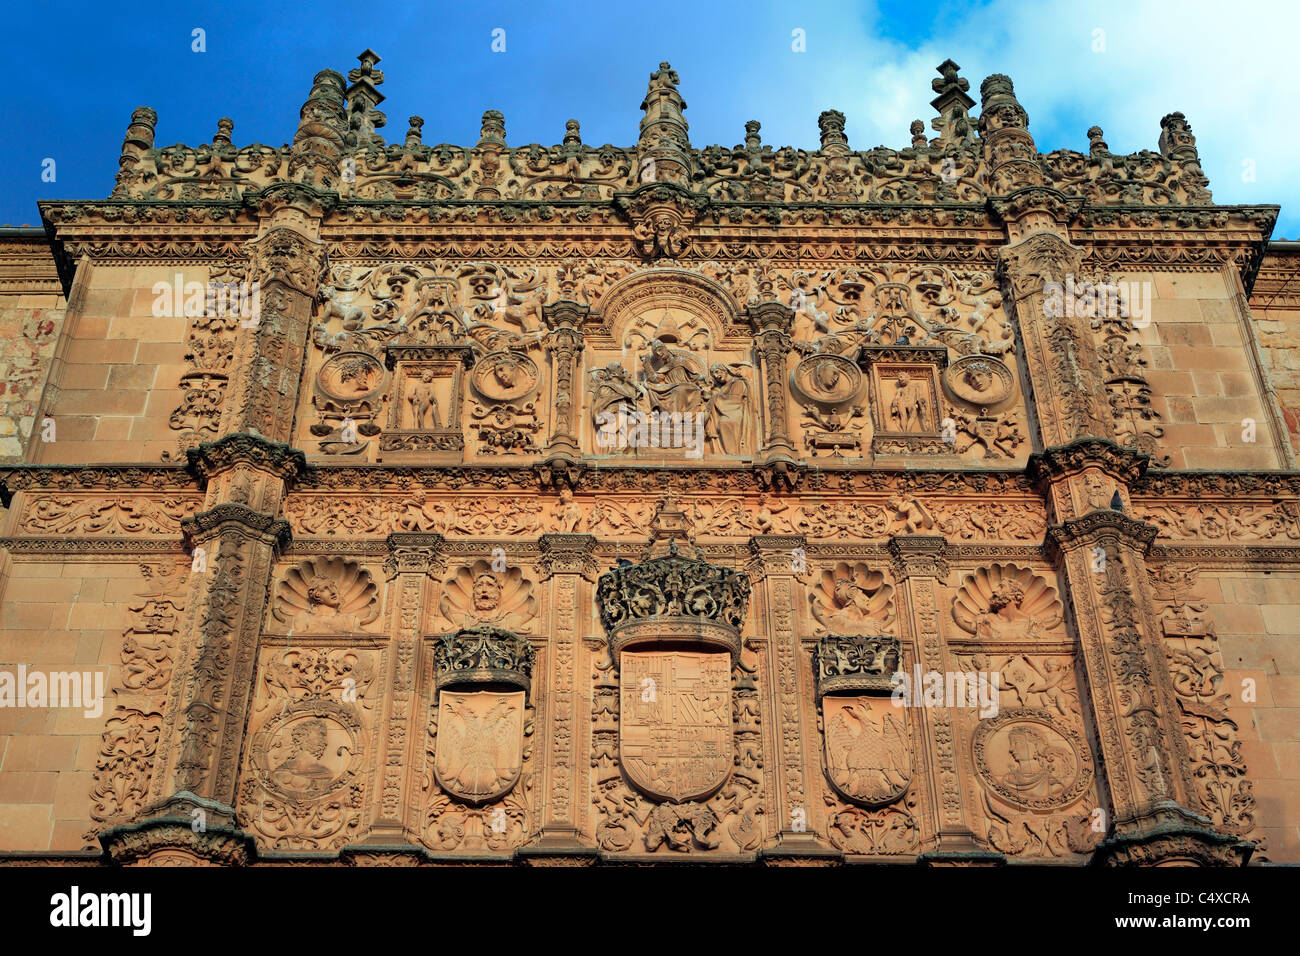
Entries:
<svg viewBox="0 0 1300 956">
<path fill-rule="evenodd" d="M 360 631 L 380 617 L 380 591 L 355 561 L 308 558 L 277 585 L 273 614 L 299 632 Z"/>
</svg>

